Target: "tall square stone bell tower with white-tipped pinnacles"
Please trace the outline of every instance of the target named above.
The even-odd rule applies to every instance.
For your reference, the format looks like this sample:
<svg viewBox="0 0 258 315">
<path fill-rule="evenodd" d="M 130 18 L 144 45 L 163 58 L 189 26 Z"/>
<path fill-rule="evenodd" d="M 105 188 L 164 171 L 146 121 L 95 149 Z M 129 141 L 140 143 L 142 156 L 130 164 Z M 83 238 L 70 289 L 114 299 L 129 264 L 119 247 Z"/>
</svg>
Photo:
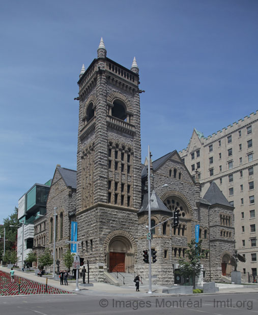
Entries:
<svg viewBox="0 0 258 315">
<path fill-rule="evenodd" d="M 136 59 L 129 70 L 107 58 L 102 38 L 97 52 L 78 81 L 76 217 L 80 256 L 101 280 L 134 267 L 141 148 Z"/>
</svg>

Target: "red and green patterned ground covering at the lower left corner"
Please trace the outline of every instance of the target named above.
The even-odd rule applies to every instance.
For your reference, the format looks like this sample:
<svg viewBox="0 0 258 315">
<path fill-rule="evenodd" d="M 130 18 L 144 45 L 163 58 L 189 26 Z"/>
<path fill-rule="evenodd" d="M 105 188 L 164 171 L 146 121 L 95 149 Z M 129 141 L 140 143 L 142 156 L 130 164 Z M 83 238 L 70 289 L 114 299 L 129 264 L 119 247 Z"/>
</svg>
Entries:
<svg viewBox="0 0 258 315">
<path fill-rule="evenodd" d="M 10 274 L 0 271 L 0 296 L 18 295 L 18 294 L 71 294 L 71 292 L 57 289 L 51 286 L 43 285 L 32 280 L 20 277 L 20 293 L 18 292 L 19 277 L 14 276 L 14 282 L 11 282 Z"/>
</svg>

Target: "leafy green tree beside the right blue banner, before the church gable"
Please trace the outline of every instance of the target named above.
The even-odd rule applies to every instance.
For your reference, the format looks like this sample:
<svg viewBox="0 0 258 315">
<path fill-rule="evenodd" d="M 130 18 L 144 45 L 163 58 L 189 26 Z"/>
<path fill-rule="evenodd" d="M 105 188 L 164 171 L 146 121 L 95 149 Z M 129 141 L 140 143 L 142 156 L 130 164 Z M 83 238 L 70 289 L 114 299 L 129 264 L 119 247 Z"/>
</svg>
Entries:
<svg viewBox="0 0 258 315">
<path fill-rule="evenodd" d="M 206 253 L 208 253 L 208 249 L 203 250 L 202 248 L 202 240 L 199 240 L 198 243 L 195 242 L 194 239 L 191 240 L 191 243 L 188 243 L 188 249 L 186 250 L 185 259 L 179 260 L 179 265 L 181 267 L 181 274 L 184 276 L 192 276 L 193 279 L 193 289 L 195 286 L 195 276 L 199 275 L 202 270 L 202 266 L 200 263 L 201 259 L 206 258 Z"/>
</svg>

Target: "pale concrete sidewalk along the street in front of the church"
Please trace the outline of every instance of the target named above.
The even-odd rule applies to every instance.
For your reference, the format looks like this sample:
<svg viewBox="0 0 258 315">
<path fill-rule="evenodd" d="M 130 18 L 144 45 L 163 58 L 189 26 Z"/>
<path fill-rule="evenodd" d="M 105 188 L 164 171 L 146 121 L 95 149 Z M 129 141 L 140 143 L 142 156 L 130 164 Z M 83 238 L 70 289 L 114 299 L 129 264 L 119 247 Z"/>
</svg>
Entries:
<svg viewBox="0 0 258 315">
<path fill-rule="evenodd" d="M 10 269 L 7 267 L 0 267 L 0 270 L 9 273 Z M 26 279 L 30 279 L 39 283 L 46 283 L 46 278 L 43 277 L 38 277 L 35 275 L 35 273 L 29 274 L 26 272 L 18 271 L 15 270 L 15 275 L 20 276 Z M 79 279 L 79 283 L 81 283 L 81 279 Z M 93 287 L 81 287 L 79 285 L 80 291 L 74 291 L 76 288 L 76 283 L 75 282 L 70 282 L 68 281 L 68 286 L 61 286 L 59 280 L 53 280 L 51 279 L 51 276 L 48 278 L 48 285 L 53 286 L 58 289 L 66 290 L 69 292 L 72 292 L 74 294 L 83 294 L 83 295 L 89 295 L 89 296 L 106 296 L 106 297 L 146 297 L 147 292 L 149 290 L 149 286 L 140 286 L 140 292 L 135 291 L 134 286 L 122 286 L 122 287 L 117 287 L 113 285 L 109 285 L 108 283 L 104 282 L 94 282 Z M 253 286 L 249 288 L 250 286 Z M 230 288 L 222 288 L 223 283 L 221 284 L 221 288 L 219 289 L 219 292 L 213 293 L 213 294 L 226 294 L 226 293 L 258 293 L 258 285 L 249 285 L 249 286 L 244 286 L 244 285 L 233 285 Z M 248 287 L 248 288 L 247 288 Z M 157 297 L 157 296 L 179 296 L 179 294 L 165 294 L 162 293 L 162 289 L 167 288 L 164 286 L 152 286 L 152 297 Z M 212 293 L 209 293 L 209 295 Z M 182 295 L 181 295 L 182 296 Z M 186 295 L 183 295 L 186 296 Z"/>
</svg>

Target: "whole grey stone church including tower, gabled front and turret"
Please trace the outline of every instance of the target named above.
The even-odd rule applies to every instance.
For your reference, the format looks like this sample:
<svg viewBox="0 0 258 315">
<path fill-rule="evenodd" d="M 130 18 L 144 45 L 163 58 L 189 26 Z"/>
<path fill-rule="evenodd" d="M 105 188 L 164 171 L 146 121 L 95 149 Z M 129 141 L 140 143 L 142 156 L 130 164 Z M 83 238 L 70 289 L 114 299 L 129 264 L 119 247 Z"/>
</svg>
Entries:
<svg viewBox="0 0 258 315">
<path fill-rule="evenodd" d="M 78 81 L 77 183 L 69 187 L 62 168 L 56 169 L 47 205 L 48 244 L 51 248 L 51 209 L 56 206 L 67 227 L 77 220 L 79 255 L 89 260 L 91 278 L 105 280 L 104 271 L 136 271 L 147 279 L 142 251 L 148 249 L 148 174 L 141 164 L 139 69 L 135 58 L 130 70 L 109 59 L 102 39 L 97 53 L 87 70 L 82 67 Z M 153 231 L 153 283 L 174 283 L 178 261 L 186 258 L 187 243 L 195 238 L 195 225 L 200 226 L 203 247 L 210 249 L 202 262 L 205 279 L 221 279 L 222 269 L 230 273 L 234 207 L 217 185 L 211 183 L 200 198 L 200 184 L 177 151 L 153 161 L 151 173 L 152 226 L 180 211 L 178 227 L 169 220 Z M 160 188 L 163 184 L 167 186 Z M 63 242 L 70 236 L 67 229 L 64 233 L 59 239 Z"/>
</svg>

